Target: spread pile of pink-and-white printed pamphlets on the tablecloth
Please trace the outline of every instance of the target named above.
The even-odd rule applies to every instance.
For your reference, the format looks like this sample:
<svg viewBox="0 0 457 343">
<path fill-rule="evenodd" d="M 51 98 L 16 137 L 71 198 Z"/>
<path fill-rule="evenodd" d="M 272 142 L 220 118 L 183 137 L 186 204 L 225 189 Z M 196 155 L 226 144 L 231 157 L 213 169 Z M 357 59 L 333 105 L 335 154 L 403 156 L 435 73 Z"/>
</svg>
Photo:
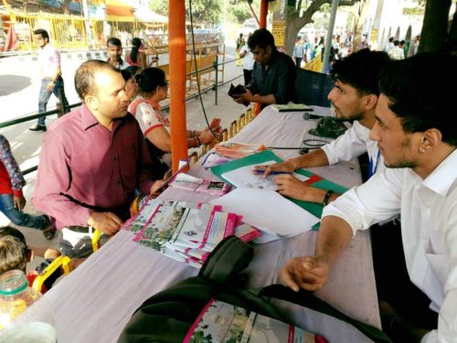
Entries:
<svg viewBox="0 0 457 343">
<path fill-rule="evenodd" d="M 225 237 L 235 234 L 252 241 L 260 236 L 220 206 L 158 199 L 148 200 L 122 229 L 135 233 L 133 241 L 196 268 Z"/>
</svg>

